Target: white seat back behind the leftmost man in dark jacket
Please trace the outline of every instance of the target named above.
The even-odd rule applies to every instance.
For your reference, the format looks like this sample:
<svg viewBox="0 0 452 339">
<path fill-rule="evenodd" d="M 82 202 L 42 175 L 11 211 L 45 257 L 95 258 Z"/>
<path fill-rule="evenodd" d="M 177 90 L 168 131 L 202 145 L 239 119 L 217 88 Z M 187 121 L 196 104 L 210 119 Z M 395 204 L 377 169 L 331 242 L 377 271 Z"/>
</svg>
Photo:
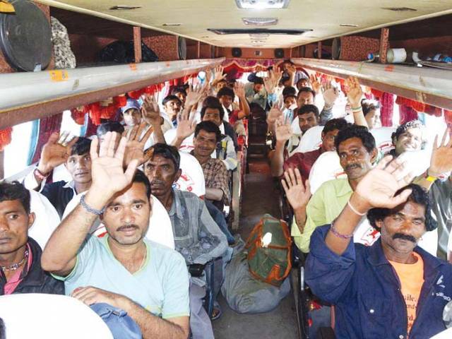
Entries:
<svg viewBox="0 0 452 339">
<path fill-rule="evenodd" d="M 44 249 L 47 240 L 60 223 L 59 215 L 52 203 L 37 191 L 30 191 L 30 210 L 35 213 L 35 222 L 28 229 L 28 236 Z"/>
</svg>

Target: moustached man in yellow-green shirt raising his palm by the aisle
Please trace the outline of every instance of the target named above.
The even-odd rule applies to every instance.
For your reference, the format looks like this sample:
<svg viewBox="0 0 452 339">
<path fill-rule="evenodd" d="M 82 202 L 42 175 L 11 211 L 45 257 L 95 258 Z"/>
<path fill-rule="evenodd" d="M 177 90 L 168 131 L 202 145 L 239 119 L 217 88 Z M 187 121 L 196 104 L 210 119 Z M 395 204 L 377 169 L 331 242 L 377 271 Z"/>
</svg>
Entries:
<svg viewBox="0 0 452 339">
<path fill-rule="evenodd" d="M 364 126 L 352 125 L 342 129 L 335 138 L 335 149 L 347 179 L 325 182 L 312 198 L 309 186 L 304 188 L 298 169 L 295 169 L 296 177 L 293 170 L 289 169 L 284 174 L 285 180 L 282 180 L 287 200 L 294 210 L 292 236 L 297 247 L 304 253 L 309 252 L 312 232 L 339 215 L 359 181 L 376 161 L 374 136 Z M 373 243 L 377 234 L 369 232 L 369 228 L 363 222 L 355 234 L 355 241 Z"/>
</svg>

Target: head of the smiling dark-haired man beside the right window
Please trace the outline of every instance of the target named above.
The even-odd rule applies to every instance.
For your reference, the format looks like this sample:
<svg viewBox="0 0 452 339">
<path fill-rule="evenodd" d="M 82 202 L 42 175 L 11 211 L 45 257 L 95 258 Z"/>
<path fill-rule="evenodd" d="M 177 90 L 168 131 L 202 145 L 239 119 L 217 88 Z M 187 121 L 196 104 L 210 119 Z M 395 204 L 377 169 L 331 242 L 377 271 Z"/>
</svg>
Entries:
<svg viewBox="0 0 452 339">
<path fill-rule="evenodd" d="M 420 150 L 423 142 L 422 122 L 412 120 L 398 126 L 392 135 L 394 149 L 389 152 L 393 157 L 398 157 L 404 152 Z"/>
</svg>

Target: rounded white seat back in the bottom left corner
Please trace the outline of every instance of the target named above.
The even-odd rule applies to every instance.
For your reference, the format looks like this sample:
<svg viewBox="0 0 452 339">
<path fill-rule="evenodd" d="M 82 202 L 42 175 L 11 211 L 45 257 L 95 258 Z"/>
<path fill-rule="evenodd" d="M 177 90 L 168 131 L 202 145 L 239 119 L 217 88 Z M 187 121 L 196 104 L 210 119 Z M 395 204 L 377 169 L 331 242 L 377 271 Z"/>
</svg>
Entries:
<svg viewBox="0 0 452 339">
<path fill-rule="evenodd" d="M 95 311 L 66 295 L 2 295 L 0 318 L 7 339 L 113 339 Z"/>
</svg>

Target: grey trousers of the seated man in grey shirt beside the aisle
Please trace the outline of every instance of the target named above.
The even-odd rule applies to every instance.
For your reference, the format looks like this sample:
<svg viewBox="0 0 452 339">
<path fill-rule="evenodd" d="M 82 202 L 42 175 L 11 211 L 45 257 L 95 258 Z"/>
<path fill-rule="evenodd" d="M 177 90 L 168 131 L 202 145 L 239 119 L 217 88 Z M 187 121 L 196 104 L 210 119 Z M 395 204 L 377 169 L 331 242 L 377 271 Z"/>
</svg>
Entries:
<svg viewBox="0 0 452 339">
<path fill-rule="evenodd" d="M 213 328 L 203 307 L 206 287 L 190 282 L 190 329 L 193 339 L 213 339 Z"/>
</svg>

